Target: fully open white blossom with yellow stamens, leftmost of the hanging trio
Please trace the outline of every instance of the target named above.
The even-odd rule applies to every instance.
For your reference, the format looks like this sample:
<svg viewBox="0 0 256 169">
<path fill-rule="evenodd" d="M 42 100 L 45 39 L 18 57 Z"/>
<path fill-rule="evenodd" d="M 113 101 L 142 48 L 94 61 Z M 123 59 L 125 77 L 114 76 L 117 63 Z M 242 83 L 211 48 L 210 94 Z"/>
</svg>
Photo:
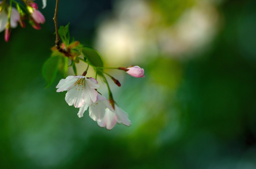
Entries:
<svg viewBox="0 0 256 169">
<path fill-rule="evenodd" d="M 65 100 L 68 105 L 81 107 L 83 104 L 97 102 L 98 92 L 95 89 L 100 87 L 94 78 L 86 78 L 85 76 L 68 76 L 66 79 L 61 79 L 56 86 L 57 92 L 67 90 Z"/>
</svg>

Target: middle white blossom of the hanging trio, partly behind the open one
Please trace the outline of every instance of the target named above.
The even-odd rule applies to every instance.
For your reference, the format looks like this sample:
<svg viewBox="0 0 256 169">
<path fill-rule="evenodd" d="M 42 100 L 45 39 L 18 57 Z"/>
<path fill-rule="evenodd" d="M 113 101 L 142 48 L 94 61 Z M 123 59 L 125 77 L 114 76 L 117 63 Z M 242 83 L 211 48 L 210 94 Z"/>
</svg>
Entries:
<svg viewBox="0 0 256 169">
<path fill-rule="evenodd" d="M 109 110 L 111 112 L 114 112 L 113 107 L 110 105 L 109 100 L 106 100 L 104 96 L 101 94 L 97 95 L 98 101 L 91 104 L 83 104 L 82 107 L 80 107 L 78 112 L 78 117 L 83 117 L 84 111 L 86 111 L 89 107 L 89 116 L 94 120 L 102 120 L 105 116 L 105 111 Z"/>
</svg>

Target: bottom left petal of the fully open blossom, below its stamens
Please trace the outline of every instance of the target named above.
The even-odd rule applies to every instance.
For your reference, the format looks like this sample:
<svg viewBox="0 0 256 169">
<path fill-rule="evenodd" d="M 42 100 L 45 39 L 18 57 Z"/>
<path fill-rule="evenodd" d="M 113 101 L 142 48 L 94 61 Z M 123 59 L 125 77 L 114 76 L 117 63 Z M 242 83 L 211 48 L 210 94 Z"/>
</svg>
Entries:
<svg viewBox="0 0 256 169">
<path fill-rule="evenodd" d="M 82 91 L 78 90 L 77 88 L 68 90 L 65 100 L 68 105 L 72 106 L 74 104 L 74 107 L 76 108 L 81 107 L 85 103 L 84 99 L 82 98 Z"/>
</svg>

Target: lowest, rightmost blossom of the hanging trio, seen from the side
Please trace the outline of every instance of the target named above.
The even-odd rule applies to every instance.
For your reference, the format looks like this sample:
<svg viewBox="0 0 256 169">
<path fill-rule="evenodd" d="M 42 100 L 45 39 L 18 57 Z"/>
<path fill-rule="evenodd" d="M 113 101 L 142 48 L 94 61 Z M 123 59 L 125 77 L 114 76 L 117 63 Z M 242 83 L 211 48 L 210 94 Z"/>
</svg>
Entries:
<svg viewBox="0 0 256 169">
<path fill-rule="evenodd" d="M 118 105 L 115 104 L 115 112 L 106 109 L 105 115 L 102 120 L 97 120 L 97 124 L 100 127 L 106 127 L 106 129 L 111 130 L 115 127 L 115 124 L 124 124 L 125 126 L 131 126 L 131 121 L 129 120 L 128 114 L 125 113 Z"/>
</svg>

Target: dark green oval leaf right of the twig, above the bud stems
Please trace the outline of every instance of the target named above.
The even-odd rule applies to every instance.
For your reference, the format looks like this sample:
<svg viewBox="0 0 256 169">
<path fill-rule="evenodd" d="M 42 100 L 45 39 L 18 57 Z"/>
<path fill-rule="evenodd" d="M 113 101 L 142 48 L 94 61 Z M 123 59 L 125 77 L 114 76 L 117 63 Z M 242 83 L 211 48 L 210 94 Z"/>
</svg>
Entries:
<svg viewBox="0 0 256 169">
<path fill-rule="evenodd" d="M 98 52 L 91 47 L 83 47 L 84 57 L 95 67 L 103 67 L 103 62 Z"/>
</svg>

